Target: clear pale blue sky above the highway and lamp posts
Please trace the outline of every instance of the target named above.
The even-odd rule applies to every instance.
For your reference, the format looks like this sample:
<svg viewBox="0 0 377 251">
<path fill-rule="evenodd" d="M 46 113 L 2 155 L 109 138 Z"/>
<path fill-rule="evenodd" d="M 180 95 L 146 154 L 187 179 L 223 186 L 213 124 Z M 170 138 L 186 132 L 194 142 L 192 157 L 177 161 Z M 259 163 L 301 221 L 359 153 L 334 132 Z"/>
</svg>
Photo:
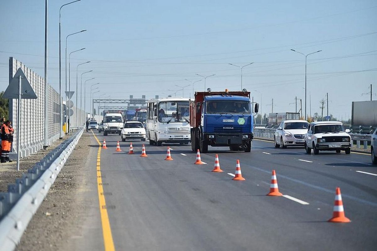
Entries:
<svg viewBox="0 0 377 251">
<path fill-rule="evenodd" d="M 49 1 L 49 83 L 58 90 L 59 8 L 70 1 Z M 308 105 L 320 113 L 329 93 L 329 113 L 351 117 L 351 102 L 368 100 L 369 84 L 377 92 L 377 2 L 365 1 L 99 1 L 81 0 L 62 9 L 64 48 L 71 56 L 71 89 L 77 64 L 93 70 L 84 79 L 100 82 L 99 95 L 147 99 L 167 96 L 179 86 L 211 75 L 212 90 L 244 88 L 261 102 L 262 112 L 294 111 L 294 97 L 304 98 L 304 57 L 308 56 Z M 0 8 L 0 90 L 8 85 L 8 58 L 22 61 L 43 76 L 44 0 L 2 1 Z M 173 90 L 173 91 L 169 91 Z M 204 81 L 195 84 L 204 90 Z M 256 90 L 256 91 L 254 91 Z M 192 86 L 184 96 L 192 95 Z M 377 99 L 377 96 L 373 96 Z M 304 102 L 304 100 L 303 100 Z M 89 102 L 87 103 L 87 107 Z M 304 108 L 303 108 L 304 109 Z M 326 112 L 325 112 L 326 113 Z"/>
</svg>

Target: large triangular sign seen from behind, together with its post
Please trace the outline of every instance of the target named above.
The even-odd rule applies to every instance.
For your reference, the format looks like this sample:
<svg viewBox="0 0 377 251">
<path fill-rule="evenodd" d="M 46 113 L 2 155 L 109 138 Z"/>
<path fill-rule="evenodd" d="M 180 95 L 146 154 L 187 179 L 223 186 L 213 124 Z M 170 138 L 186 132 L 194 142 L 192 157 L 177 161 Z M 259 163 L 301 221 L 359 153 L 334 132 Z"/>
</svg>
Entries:
<svg viewBox="0 0 377 251">
<path fill-rule="evenodd" d="M 26 78 L 21 68 L 18 68 L 16 74 L 9 82 L 8 88 L 6 88 L 4 98 L 18 99 L 17 104 L 17 171 L 20 170 L 20 119 L 21 119 L 21 99 L 37 99 L 37 95 L 30 85 L 30 82 Z M 45 118 L 47 120 L 47 118 Z"/>
</svg>

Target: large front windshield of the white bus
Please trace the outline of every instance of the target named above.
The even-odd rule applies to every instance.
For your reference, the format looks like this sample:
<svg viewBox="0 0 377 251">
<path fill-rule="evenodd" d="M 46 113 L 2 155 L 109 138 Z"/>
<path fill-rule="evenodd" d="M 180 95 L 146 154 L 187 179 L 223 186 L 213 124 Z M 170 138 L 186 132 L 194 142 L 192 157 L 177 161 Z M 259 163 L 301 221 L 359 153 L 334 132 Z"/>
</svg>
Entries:
<svg viewBox="0 0 377 251">
<path fill-rule="evenodd" d="M 173 101 L 158 104 L 159 122 L 189 122 L 189 102 Z"/>
</svg>

